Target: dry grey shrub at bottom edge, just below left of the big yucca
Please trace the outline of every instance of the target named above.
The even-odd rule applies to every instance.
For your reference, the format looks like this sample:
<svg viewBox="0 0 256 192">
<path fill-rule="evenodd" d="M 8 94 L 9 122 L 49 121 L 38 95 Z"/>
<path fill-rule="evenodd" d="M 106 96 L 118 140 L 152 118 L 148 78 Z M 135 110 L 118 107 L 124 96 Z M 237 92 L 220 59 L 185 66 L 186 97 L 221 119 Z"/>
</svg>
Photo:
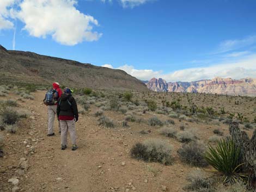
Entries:
<svg viewBox="0 0 256 192">
<path fill-rule="evenodd" d="M 205 172 L 194 170 L 187 176 L 188 183 L 184 189 L 194 192 L 215 192 L 212 189 L 213 179 L 209 178 Z"/>
</svg>

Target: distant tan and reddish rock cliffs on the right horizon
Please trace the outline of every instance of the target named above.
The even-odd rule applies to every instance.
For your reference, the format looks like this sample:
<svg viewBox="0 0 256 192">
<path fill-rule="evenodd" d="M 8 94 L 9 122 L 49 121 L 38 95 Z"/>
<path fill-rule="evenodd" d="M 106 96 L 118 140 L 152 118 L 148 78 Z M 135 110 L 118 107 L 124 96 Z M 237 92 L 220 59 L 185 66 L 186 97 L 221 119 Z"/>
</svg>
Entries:
<svg viewBox="0 0 256 192">
<path fill-rule="evenodd" d="M 167 92 L 204 92 L 206 94 L 256 95 L 256 79 L 231 79 L 216 77 L 212 80 L 195 82 L 166 83 L 163 79 L 151 79 L 147 87 L 153 91 Z"/>
</svg>

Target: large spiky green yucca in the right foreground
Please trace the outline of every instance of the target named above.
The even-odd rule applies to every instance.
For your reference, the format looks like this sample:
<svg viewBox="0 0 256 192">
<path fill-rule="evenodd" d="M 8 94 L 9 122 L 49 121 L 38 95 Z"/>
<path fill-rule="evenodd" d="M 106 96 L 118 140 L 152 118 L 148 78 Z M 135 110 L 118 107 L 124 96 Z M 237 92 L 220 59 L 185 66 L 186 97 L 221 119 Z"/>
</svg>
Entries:
<svg viewBox="0 0 256 192">
<path fill-rule="evenodd" d="M 241 172 L 244 163 L 241 163 L 240 152 L 240 148 L 235 146 L 233 140 L 222 139 L 218 141 L 216 148 L 209 146 L 205 159 L 222 174 L 223 183 L 238 183 L 247 177 L 247 174 Z"/>
</svg>

